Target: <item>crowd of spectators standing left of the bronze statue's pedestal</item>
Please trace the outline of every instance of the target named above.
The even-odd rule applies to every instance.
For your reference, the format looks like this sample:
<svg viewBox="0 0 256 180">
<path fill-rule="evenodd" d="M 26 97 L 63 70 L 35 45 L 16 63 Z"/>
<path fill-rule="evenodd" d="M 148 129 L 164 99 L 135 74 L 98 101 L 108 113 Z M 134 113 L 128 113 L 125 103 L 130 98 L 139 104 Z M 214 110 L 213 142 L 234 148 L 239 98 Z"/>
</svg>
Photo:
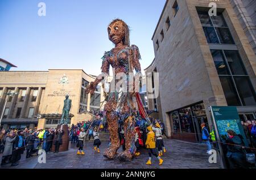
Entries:
<svg viewBox="0 0 256 180">
<path fill-rule="evenodd" d="M 54 153 L 59 152 L 64 131 L 56 128 L 40 130 L 2 130 L 0 134 L 2 161 L 1 165 L 18 165 L 21 155 L 26 151 L 26 158 L 38 155 L 39 148 L 49 153 L 55 145 Z"/>
</svg>

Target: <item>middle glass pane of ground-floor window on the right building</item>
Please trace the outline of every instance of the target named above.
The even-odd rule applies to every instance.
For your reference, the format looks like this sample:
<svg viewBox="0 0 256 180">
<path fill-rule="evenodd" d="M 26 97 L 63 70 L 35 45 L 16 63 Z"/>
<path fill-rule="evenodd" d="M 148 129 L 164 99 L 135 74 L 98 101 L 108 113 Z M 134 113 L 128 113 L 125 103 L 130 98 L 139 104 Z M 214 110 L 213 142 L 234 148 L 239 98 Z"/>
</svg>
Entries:
<svg viewBox="0 0 256 180">
<path fill-rule="evenodd" d="M 191 116 L 191 109 L 190 108 L 180 109 L 179 113 L 180 113 L 181 132 L 195 132 L 192 116 Z"/>
</svg>

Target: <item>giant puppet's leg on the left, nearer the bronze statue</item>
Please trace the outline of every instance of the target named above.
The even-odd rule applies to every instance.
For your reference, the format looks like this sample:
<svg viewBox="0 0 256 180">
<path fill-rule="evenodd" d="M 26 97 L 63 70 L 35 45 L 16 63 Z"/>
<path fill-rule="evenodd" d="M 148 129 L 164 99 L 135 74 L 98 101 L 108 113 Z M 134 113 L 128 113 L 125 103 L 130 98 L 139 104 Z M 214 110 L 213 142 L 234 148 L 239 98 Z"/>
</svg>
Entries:
<svg viewBox="0 0 256 180">
<path fill-rule="evenodd" d="M 111 98 L 104 107 L 104 109 L 107 111 L 106 119 L 108 121 L 108 130 L 110 135 L 110 147 L 105 150 L 104 157 L 108 157 L 110 159 L 114 158 L 115 153 L 120 146 L 120 140 L 118 136 L 118 117 L 114 112 L 116 106 L 117 103 L 115 102 L 114 98 Z"/>
</svg>

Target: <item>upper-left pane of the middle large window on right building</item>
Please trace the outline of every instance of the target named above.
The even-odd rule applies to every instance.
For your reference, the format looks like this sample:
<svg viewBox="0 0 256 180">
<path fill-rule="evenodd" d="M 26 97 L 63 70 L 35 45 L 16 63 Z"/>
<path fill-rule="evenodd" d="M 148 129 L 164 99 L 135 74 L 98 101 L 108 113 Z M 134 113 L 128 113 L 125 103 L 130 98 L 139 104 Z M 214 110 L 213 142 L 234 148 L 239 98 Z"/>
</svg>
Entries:
<svg viewBox="0 0 256 180">
<path fill-rule="evenodd" d="M 214 60 L 215 67 L 217 69 L 218 75 L 230 75 L 228 67 L 224 59 L 224 55 L 221 50 L 211 50 L 212 57 Z"/>
</svg>

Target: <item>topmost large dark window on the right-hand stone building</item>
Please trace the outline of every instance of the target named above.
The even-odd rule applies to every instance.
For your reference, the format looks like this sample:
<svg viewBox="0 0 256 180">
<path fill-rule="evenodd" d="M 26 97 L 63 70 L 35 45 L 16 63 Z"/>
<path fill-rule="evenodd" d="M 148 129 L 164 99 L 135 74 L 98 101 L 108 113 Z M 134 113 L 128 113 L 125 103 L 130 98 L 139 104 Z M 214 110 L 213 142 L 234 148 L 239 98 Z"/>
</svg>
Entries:
<svg viewBox="0 0 256 180">
<path fill-rule="evenodd" d="M 197 11 L 197 13 L 208 43 L 234 44 L 222 13 L 217 13 L 217 16 L 209 16 L 207 11 Z"/>
</svg>

